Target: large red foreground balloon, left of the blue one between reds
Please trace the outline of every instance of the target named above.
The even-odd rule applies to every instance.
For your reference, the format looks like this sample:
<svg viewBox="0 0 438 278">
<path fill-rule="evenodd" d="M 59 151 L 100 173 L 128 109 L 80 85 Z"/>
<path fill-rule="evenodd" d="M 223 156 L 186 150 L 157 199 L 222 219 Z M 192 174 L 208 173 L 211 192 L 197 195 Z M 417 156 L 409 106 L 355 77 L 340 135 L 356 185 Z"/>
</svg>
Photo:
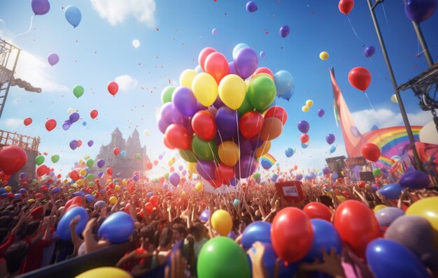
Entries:
<svg viewBox="0 0 438 278">
<path fill-rule="evenodd" d="M 283 208 L 272 221 L 271 241 L 283 261 L 294 263 L 304 258 L 313 244 L 312 224 L 307 214 L 296 207 Z"/>
</svg>

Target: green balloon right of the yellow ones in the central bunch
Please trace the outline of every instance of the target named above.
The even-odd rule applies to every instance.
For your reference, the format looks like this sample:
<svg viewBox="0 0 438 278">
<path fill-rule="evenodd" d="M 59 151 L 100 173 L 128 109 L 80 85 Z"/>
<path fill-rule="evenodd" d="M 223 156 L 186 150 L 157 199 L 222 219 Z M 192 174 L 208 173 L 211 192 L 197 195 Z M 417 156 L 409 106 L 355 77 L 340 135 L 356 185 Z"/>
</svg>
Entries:
<svg viewBox="0 0 438 278">
<path fill-rule="evenodd" d="M 251 83 L 246 94 L 251 105 L 259 112 L 262 112 L 274 101 L 276 94 L 274 81 L 267 76 L 259 76 Z"/>
</svg>

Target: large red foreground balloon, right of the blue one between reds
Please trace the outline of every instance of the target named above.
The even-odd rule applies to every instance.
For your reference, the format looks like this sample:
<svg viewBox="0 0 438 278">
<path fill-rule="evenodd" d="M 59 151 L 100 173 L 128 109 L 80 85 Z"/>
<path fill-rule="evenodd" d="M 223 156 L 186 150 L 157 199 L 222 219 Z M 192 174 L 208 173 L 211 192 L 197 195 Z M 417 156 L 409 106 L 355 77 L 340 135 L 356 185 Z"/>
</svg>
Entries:
<svg viewBox="0 0 438 278">
<path fill-rule="evenodd" d="M 334 212 L 334 226 L 352 251 L 365 257 L 367 244 L 380 235 L 374 212 L 357 200 L 342 202 Z"/>
</svg>

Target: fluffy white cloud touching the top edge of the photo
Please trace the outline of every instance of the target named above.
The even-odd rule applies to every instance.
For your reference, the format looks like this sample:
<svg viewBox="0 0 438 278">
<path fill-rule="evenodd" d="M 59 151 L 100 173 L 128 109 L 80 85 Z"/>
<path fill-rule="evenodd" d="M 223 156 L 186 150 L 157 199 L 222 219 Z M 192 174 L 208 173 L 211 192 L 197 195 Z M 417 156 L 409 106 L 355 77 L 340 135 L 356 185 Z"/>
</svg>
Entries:
<svg viewBox="0 0 438 278">
<path fill-rule="evenodd" d="M 111 25 L 117 25 L 133 16 L 139 22 L 145 22 L 149 27 L 155 24 L 154 0 L 90 0 L 94 10 L 100 17 L 108 20 Z"/>
</svg>

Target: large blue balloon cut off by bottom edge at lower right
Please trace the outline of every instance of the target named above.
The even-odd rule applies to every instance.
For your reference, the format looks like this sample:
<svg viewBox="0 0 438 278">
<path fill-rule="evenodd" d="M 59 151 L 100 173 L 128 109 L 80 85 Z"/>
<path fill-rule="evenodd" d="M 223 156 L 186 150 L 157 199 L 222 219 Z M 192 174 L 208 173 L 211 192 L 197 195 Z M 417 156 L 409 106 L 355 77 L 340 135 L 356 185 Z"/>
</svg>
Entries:
<svg viewBox="0 0 438 278">
<path fill-rule="evenodd" d="M 369 242 L 366 256 L 376 278 L 430 278 L 418 256 L 393 240 L 377 239 Z"/>
</svg>

